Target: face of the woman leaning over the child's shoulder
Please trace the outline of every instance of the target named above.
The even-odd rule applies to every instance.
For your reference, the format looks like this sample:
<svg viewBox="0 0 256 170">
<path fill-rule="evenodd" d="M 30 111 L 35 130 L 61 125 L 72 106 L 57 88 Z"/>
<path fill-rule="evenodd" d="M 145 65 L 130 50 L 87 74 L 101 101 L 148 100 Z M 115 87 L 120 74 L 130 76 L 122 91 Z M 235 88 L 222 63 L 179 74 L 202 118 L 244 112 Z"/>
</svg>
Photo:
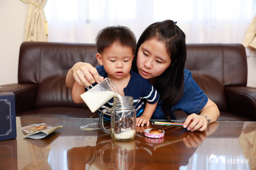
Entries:
<svg viewBox="0 0 256 170">
<path fill-rule="evenodd" d="M 140 45 L 136 62 L 139 74 L 144 79 L 151 79 L 162 74 L 171 61 L 165 44 L 152 38 Z"/>
</svg>

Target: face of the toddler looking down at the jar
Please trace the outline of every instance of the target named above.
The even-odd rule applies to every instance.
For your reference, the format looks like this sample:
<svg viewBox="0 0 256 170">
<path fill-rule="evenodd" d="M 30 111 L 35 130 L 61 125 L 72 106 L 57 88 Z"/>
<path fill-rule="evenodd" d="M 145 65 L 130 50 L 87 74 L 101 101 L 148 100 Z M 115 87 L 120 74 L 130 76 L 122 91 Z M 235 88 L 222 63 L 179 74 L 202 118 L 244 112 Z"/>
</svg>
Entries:
<svg viewBox="0 0 256 170">
<path fill-rule="evenodd" d="M 109 48 L 106 48 L 101 56 L 104 69 L 111 80 L 130 76 L 129 73 L 134 57 L 132 48 L 114 43 Z"/>
</svg>

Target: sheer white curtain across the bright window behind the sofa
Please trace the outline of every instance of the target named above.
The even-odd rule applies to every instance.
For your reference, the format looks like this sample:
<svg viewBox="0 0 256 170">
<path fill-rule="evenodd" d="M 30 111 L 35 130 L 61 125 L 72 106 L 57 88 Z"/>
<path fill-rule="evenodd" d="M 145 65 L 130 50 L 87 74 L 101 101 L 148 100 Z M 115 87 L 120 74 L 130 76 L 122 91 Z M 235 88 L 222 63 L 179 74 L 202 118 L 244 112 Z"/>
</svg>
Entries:
<svg viewBox="0 0 256 170">
<path fill-rule="evenodd" d="M 99 30 L 123 25 L 138 40 L 149 24 L 171 19 L 187 43 L 241 43 L 256 0 L 48 0 L 49 42 L 95 43 Z"/>
</svg>

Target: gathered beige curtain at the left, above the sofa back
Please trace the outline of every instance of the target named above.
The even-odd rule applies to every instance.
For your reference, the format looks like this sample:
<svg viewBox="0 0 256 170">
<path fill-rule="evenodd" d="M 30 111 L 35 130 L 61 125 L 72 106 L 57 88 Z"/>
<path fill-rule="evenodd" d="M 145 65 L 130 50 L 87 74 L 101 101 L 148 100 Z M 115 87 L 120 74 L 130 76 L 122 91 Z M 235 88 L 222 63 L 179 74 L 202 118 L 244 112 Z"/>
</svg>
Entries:
<svg viewBox="0 0 256 170">
<path fill-rule="evenodd" d="M 48 41 L 48 28 L 44 15 L 47 0 L 21 0 L 27 4 L 24 41 Z"/>
</svg>

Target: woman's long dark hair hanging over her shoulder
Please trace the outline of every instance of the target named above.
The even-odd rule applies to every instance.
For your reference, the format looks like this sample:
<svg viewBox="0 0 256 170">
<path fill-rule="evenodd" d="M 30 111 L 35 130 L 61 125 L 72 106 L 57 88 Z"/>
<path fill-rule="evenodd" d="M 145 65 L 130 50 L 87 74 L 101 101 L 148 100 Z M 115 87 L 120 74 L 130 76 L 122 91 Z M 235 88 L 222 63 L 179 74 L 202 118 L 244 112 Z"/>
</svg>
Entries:
<svg viewBox="0 0 256 170">
<path fill-rule="evenodd" d="M 168 120 L 171 120 L 172 106 L 184 93 L 184 66 L 187 58 L 185 34 L 172 20 L 156 22 L 148 26 L 137 43 L 132 64 L 132 69 L 135 72 L 138 72 L 136 60 L 139 47 L 152 38 L 165 44 L 167 54 L 172 60 L 169 67 L 161 75 L 155 77 L 153 84 L 160 94 L 160 100 L 163 101 L 164 115 Z"/>
</svg>

